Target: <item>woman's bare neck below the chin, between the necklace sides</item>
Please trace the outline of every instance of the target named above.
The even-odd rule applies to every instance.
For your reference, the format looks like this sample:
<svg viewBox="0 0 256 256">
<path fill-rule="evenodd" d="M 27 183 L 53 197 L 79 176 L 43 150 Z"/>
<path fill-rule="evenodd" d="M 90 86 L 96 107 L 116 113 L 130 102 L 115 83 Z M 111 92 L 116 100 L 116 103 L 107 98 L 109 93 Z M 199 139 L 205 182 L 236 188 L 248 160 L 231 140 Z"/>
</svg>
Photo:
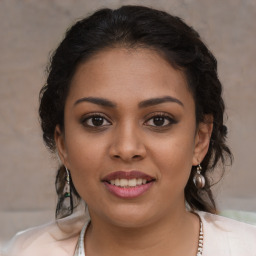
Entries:
<svg viewBox="0 0 256 256">
<path fill-rule="evenodd" d="M 93 216 L 85 238 L 85 250 L 88 256 L 194 256 L 198 235 L 199 219 L 185 208 L 139 228 L 119 227 Z"/>
</svg>

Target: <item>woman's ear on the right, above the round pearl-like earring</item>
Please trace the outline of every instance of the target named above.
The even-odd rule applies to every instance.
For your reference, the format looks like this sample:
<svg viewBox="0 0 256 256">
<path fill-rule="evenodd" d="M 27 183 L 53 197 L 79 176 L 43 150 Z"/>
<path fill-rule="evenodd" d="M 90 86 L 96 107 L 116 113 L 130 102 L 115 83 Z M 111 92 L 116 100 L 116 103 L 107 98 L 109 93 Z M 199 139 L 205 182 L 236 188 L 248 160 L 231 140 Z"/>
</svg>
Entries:
<svg viewBox="0 0 256 256">
<path fill-rule="evenodd" d="M 195 148 L 192 161 L 194 166 L 200 164 L 203 161 L 205 155 L 207 154 L 210 145 L 212 129 L 213 116 L 205 115 L 204 121 L 199 123 L 196 131 Z"/>
</svg>

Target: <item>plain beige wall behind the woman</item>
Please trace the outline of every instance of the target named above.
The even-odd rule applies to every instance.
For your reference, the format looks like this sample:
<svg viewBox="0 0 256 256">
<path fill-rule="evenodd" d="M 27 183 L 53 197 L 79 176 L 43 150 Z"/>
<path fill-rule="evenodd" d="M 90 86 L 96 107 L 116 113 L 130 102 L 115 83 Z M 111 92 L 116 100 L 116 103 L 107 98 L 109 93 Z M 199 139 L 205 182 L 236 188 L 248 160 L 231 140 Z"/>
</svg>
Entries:
<svg viewBox="0 0 256 256">
<path fill-rule="evenodd" d="M 44 148 L 38 92 L 67 26 L 99 7 L 145 4 L 181 16 L 219 61 L 235 162 L 216 192 L 221 209 L 256 211 L 255 0 L 0 1 L 0 240 L 54 218 L 56 162 Z"/>
</svg>

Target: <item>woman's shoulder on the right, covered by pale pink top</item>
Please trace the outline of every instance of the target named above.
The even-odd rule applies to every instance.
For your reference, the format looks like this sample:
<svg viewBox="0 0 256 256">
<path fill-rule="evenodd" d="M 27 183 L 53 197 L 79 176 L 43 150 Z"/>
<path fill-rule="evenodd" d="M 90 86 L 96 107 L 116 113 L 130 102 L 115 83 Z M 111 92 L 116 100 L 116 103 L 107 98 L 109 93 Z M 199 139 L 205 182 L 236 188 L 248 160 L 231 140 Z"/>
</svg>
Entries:
<svg viewBox="0 0 256 256">
<path fill-rule="evenodd" d="M 206 255 L 256 256 L 256 226 L 206 212 L 198 214 L 204 227 Z"/>
</svg>

